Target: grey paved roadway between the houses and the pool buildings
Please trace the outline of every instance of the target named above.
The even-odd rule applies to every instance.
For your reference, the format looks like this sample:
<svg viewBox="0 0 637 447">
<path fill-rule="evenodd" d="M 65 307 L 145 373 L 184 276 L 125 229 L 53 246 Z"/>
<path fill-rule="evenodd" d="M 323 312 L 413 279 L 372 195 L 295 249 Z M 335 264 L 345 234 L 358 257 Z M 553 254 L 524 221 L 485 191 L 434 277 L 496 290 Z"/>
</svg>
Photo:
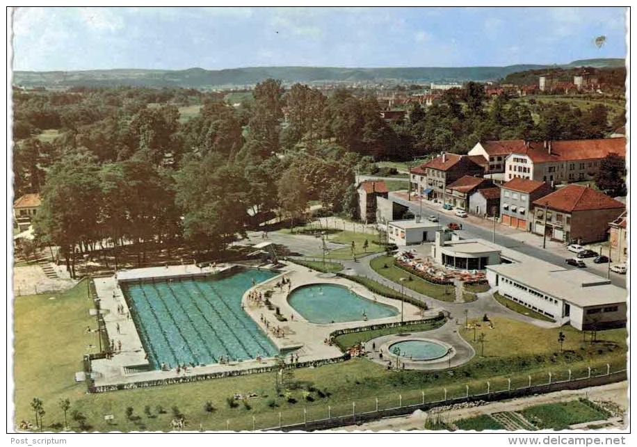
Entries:
<svg viewBox="0 0 637 447">
<path fill-rule="evenodd" d="M 395 202 L 399 204 L 403 204 L 405 206 L 409 206 L 410 210 L 416 214 L 420 212 L 420 201 L 414 200 L 409 202 L 408 200 L 404 200 L 401 197 L 398 197 L 395 194 L 390 194 L 390 197 Z M 462 218 L 454 218 L 453 216 L 449 216 L 445 213 L 440 212 L 440 208 L 435 208 L 434 206 L 430 206 L 427 200 L 422 201 L 422 213 L 424 216 L 435 215 L 438 216 L 441 225 L 446 226 L 449 222 L 460 222 L 462 223 L 462 230 L 456 231 L 460 237 L 462 238 L 483 238 L 487 241 L 493 241 L 493 231 L 487 229 L 485 227 L 481 227 L 479 225 L 474 225 L 471 222 L 468 222 L 467 219 Z M 496 232 L 495 234 L 495 243 L 499 245 L 503 245 L 504 247 L 508 247 L 512 250 L 516 250 L 518 252 L 522 252 L 524 254 L 528 254 L 529 256 L 542 259 L 543 261 L 547 261 L 550 263 L 554 263 L 557 266 L 570 268 L 565 264 L 565 257 L 560 256 L 558 254 L 554 254 L 548 250 L 542 249 L 542 247 L 535 247 L 533 245 L 529 245 L 526 243 L 522 243 L 515 238 L 510 236 L 504 236 L 503 234 L 499 234 Z M 586 263 L 590 266 L 592 264 L 592 260 L 587 259 Z M 605 264 L 604 264 L 605 266 Z M 603 266 L 590 266 L 586 268 L 590 273 L 595 273 L 597 275 L 603 275 L 606 277 L 605 272 L 603 271 L 605 267 Z M 619 286 L 622 288 L 626 288 L 626 277 L 625 275 L 617 275 L 615 273 L 611 273 L 611 282 L 615 284 L 615 286 Z"/>
</svg>

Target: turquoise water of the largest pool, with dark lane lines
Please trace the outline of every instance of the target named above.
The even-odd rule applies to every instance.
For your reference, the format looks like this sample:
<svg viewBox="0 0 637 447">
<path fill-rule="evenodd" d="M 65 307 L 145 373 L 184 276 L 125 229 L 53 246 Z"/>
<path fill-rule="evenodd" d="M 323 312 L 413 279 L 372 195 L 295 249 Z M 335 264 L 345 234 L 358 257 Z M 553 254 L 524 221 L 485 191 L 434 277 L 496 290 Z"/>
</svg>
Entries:
<svg viewBox="0 0 637 447">
<path fill-rule="evenodd" d="M 272 357 L 279 351 L 241 309 L 243 293 L 275 273 L 241 270 L 226 277 L 122 286 L 154 368 Z"/>
</svg>

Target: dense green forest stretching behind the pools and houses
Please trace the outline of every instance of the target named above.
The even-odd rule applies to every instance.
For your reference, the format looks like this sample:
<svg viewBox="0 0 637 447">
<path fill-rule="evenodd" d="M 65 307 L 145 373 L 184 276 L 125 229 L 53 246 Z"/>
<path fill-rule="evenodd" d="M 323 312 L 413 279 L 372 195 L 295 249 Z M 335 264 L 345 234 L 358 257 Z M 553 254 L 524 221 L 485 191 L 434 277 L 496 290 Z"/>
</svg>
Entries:
<svg viewBox="0 0 637 447">
<path fill-rule="evenodd" d="M 316 200 L 355 218 L 358 168 L 441 151 L 467 152 L 478 140 L 601 138 L 621 125 L 597 104 L 487 101 L 469 82 L 389 123 L 371 95 L 326 96 L 268 79 L 253 100 L 182 88 L 14 90 L 16 196 L 38 192 L 38 243 L 77 253 L 107 241 L 140 247 L 178 242 L 200 256 L 277 213 L 294 220 Z M 179 107 L 200 104 L 184 120 Z M 42 131 L 57 129 L 52 140 Z"/>
</svg>

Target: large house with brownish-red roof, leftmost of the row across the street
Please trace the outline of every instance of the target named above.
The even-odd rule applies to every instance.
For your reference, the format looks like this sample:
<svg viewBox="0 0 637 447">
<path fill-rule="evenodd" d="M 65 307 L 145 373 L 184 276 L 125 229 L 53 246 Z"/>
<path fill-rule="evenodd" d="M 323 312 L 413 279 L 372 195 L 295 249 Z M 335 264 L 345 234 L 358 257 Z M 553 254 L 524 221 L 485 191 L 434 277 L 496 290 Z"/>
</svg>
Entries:
<svg viewBox="0 0 637 447">
<path fill-rule="evenodd" d="M 412 190 L 418 191 L 428 200 L 444 200 L 447 185 L 465 175 L 481 177 L 484 172 L 484 167 L 467 155 L 443 152 L 435 159 L 410 170 L 410 181 Z"/>
</svg>

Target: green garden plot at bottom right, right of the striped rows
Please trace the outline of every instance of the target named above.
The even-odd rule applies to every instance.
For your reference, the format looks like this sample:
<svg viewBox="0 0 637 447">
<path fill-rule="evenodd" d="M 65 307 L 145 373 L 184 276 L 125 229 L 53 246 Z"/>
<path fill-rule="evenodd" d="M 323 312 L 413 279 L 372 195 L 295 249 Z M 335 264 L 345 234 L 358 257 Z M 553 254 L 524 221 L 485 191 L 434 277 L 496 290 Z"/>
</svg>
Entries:
<svg viewBox="0 0 637 447">
<path fill-rule="evenodd" d="M 571 400 L 570 402 L 535 405 L 522 410 L 522 415 L 540 429 L 565 430 L 569 425 L 602 421 L 609 417 L 606 412 L 588 405 L 590 401 Z"/>
</svg>

